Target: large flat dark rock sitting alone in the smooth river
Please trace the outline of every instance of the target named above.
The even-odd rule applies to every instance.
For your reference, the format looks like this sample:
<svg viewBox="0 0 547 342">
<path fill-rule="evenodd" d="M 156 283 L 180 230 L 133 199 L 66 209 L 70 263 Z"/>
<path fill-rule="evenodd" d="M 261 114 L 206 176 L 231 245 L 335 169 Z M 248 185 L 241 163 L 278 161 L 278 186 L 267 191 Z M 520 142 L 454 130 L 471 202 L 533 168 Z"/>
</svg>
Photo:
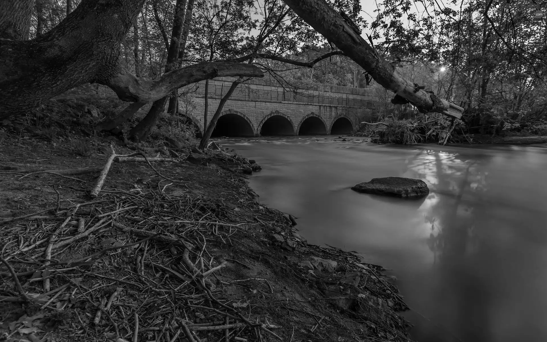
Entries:
<svg viewBox="0 0 547 342">
<path fill-rule="evenodd" d="M 360 193 L 419 198 L 429 194 L 427 184 L 421 179 L 404 177 L 373 178 L 351 188 Z"/>
</svg>

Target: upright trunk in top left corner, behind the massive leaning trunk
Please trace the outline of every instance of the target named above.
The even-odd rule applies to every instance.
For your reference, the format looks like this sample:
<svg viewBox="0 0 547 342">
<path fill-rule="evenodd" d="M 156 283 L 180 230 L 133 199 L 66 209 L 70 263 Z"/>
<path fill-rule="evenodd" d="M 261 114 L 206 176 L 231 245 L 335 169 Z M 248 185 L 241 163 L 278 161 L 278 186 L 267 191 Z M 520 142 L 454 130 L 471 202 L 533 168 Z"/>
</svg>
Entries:
<svg viewBox="0 0 547 342">
<path fill-rule="evenodd" d="M 0 38 L 27 40 L 33 5 L 33 0 L 0 1 Z"/>
</svg>

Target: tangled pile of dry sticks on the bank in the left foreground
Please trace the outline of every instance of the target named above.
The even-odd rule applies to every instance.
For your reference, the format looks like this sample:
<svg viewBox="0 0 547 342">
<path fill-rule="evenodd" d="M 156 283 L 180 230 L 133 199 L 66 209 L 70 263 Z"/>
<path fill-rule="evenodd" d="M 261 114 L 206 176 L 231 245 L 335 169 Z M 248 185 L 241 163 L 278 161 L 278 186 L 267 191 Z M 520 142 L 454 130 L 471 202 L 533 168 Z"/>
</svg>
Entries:
<svg viewBox="0 0 547 342">
<path fill-rule="evenodd" d="M 117 156 L 109 158 L 96 187 L 82 191 L 97 197 Z M 80 322 L 67 336 L 73 339 L 281 340 L 273 332 L 277 326 L 224 298 L 215 285 L 230 282 L 211 281 L 230 263 L 218 261 L 208 246 L 231 244 L 232 235 L 248 228 L 247 220 L 236 219 L 219 203 L 171 196 L 160 186 L 147 193 L 103 192 L 95 201 L 5 219 L 0 303 L 71 312 Z M 263 285 L 272 291 L 267 281 Z M 15 322 L 9 335 L 29 333 L 24 323 Z"/>
</svg>

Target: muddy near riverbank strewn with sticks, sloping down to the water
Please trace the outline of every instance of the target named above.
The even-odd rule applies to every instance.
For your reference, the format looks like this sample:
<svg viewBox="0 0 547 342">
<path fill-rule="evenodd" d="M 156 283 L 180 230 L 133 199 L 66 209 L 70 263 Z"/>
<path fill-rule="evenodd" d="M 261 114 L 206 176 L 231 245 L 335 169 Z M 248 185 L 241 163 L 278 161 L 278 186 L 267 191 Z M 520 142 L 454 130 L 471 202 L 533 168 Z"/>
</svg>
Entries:
<svg viewBox="0 0 547 342">
<path fill-rule="evenodd" d="M 196 163 L 162 141 L 1 144 L 4 339 L 410 340 L 383 269 L 307 244 L 259 204 L 233 151 Z M 110 144 L 171 160 L 113 163 L 91 198 Z"/>
</svg>

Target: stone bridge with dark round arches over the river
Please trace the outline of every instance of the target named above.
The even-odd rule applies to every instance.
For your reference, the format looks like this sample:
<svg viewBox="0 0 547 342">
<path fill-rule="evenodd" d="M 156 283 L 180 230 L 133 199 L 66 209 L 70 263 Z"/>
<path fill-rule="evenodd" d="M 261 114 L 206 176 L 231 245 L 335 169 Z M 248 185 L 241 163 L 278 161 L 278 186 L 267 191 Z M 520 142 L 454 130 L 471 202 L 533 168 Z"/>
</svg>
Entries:
<svg viewBox="0 0 547 342">
<path fill-rule="evenodd" d="M 209 120 L 232 80 L 209 81 Z M 188 117 L 202 132 L 205 82 L 193 85 L 190 94 L 194 96 L 195 110 Z M 179 112 L 188 112 L 182 108 L 185 105 L 179 103 Z M 254 79 L 239 85 L 225 103 L 212 136 L 349 134 L 356 130 L 360 121 L 371 119 L 377 105 L 375 88 L 321 84 L 312 89 L 289 91 L 276 82 Z"/>
</svg>

